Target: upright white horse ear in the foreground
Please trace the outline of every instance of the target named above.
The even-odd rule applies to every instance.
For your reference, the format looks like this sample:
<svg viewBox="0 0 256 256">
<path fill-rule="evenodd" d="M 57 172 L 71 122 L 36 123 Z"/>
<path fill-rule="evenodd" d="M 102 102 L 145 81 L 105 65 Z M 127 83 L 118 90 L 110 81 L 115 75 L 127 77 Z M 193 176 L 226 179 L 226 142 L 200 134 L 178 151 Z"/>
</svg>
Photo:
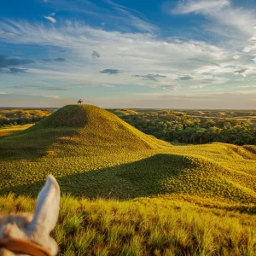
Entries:
<svg viewBox="0 0 256 256">
<path fill-rule="evenodd" d="M 60 198 L 59 184 L 55 180 L 55 177 L 49 175 L 44 188 L 38 195 L 36 211 L 32 222 L 28 225 L 29 231 L 49 235 L 50 231 L 55 228 L 58 220 Z"/>
</svg>

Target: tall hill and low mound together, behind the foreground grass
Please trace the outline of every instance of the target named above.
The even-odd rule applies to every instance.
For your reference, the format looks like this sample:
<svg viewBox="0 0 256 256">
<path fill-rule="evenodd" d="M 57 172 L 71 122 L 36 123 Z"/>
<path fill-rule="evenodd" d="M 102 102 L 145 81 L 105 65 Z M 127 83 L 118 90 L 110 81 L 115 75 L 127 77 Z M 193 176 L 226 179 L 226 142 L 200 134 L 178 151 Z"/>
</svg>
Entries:
<svg viewBox="0 0 256 256">
<path fill-rule="evenodd" d="M 63 192 L 90 198 L 168 195 L 201 205 L 256 203 L 253 146 L 172 146 L 90 105 L 66 106 L 0 139 L 0 156 L 2 195 L 37 195 L 51 173 Z"/>
</svg>

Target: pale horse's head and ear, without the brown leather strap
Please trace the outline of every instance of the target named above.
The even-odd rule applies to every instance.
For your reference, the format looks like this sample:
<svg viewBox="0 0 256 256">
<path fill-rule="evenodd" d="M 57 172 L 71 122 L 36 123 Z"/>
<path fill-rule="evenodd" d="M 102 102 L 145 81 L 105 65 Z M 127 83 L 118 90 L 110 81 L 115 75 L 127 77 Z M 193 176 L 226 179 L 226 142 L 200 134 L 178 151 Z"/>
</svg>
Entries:
<svg viewBox="0 0 256 256">
<path fill-rule="evenodd" d="M 55 240 L 49 233 L 55 228 L 60 207 L 60 188 L 55 177 L 49 176 L 44 188 L 38 195 L 37 207 L 34 214 L 18 213 L 0 216 L 0 239 L 17 238 L 32 241 L 44 247 L 52 255 L 58 252 Z M 23 256 L 5 248 L 0 249 L 0 256 Z"/>
</svg>

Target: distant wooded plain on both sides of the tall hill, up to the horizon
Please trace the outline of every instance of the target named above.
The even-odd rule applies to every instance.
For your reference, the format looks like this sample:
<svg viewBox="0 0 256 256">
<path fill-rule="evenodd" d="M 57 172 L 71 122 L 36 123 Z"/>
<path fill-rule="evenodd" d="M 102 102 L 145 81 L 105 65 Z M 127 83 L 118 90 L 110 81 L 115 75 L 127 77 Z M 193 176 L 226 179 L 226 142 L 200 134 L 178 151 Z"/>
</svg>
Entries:
<svg viewBox="0 0 256 256">
<path fill-rule="evenodd" d="M 0 109 L 0 127 L 37 123 L 55 109 Z M 182 144 L 256 144 L 256 111 L 108 109 L 146 134 Z"/>
</svg>

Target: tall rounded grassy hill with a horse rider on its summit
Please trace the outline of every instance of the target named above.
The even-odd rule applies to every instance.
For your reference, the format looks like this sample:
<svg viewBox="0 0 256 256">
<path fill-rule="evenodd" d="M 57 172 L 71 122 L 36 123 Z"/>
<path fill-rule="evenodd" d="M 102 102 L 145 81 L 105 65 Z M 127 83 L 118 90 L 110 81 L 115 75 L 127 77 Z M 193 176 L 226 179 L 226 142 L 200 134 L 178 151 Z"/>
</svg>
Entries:
<svg viewBox="0 0 256 256">
<path fill-rule="evenodd" d="M 95 150 L 116 153 L 167 145 L 170 144 L 138 131 L 107 110 L 84 104 L 67 105 L 26 131 L 3 138 L 0 154 L 3 151 L 4 154 L 18 154 L 13 151 L 31 149 L 32 154 L 67 156 L 92 154 Z"/>
</svg>

